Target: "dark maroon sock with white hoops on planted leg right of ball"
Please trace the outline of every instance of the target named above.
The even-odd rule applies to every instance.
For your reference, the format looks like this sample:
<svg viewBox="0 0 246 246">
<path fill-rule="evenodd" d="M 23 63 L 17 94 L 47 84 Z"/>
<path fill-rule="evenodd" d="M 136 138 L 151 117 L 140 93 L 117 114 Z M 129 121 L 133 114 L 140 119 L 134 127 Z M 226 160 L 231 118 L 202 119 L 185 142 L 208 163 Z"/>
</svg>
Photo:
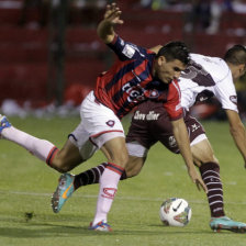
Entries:
<svg viewBox="0 0 246 246">
<path fill-rule="evenodd" d="M 224 216 L 223 187 L 220 178 L 220 166 L 206 163 L 200 167 L 202 180 L 208 188 L 208 200 L 212 217 Z"/>
</svg>

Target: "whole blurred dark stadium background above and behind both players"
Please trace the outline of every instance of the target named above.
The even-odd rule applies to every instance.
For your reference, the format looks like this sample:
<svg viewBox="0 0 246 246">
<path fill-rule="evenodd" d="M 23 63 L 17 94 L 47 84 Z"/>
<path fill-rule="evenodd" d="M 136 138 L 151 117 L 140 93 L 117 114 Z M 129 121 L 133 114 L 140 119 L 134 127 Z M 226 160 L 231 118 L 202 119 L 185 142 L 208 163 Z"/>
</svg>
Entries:
<svg viewBox="0 0 246 246">
<path fill-rule="evenodd" d="M 110 1 L 109 1 L 110 2 Z M 246 44 L 246 1 L 122 0 L 120 35 L 145 47 L 171 40 L 191 52 L 223 57 Z M 104 0 L 0 0 L 0 105 L 79 105 L 113 55 L 97 36 Z M 237 82 L 245 118 L 245 78 Z M 12 101 L 14 100 L 14 101 Z M 9 104 L 11 105 L 9 105 Z M 4 105 L 4 107 L 3 107 Z M 15 104 L 14 104 L 15 105 Z M 193 113 L 223 119 L 216 101 Z M 8 110 L 7 110 L 8 111 Z M 11 113 L 11 112 L 10 112 Z"/>
</svg>

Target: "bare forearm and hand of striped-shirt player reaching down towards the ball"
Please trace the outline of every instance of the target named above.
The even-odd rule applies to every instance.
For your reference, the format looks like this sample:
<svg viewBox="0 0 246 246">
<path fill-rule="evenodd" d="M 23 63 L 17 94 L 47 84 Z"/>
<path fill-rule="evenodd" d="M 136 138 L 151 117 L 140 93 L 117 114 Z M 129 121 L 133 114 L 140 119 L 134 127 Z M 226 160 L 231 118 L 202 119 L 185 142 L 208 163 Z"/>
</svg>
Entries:
<svg viewBox="0 0 246 246">
<path fill-rule="evenodd" d="M 177 121 L 172 121 L 174 134 L 179 146 L 180 153 L 186 161 L 189 176 L 191 180 L 197 185 L 198 189 L 200 187 L 206 192 L 206 187 L 202 181 L 201 177 L 198 175 L 195 167 L 193 165 L 193 159 L 190 150 L 190 141 L 187 133 L 187 127 L 183 122 L 183 119 L 179 119 Z"/>
</svg>

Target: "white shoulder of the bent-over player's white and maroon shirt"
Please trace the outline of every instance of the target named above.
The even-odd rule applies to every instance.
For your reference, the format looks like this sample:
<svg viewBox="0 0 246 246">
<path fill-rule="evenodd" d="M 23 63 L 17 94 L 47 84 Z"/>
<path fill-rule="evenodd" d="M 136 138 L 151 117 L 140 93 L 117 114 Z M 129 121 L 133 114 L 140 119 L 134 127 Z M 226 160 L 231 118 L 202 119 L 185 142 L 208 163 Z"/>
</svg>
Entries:
<svg viewBox="0 0 246 246">
<path fill-rule="evenodd" d="M 224 59 L 220 57 L 204 56 L 201 54 L 191 54 L 191 60 L 201 67 L 216 80 L 222 80 L 230 74 L 230 68 Z"/>
</svg>

